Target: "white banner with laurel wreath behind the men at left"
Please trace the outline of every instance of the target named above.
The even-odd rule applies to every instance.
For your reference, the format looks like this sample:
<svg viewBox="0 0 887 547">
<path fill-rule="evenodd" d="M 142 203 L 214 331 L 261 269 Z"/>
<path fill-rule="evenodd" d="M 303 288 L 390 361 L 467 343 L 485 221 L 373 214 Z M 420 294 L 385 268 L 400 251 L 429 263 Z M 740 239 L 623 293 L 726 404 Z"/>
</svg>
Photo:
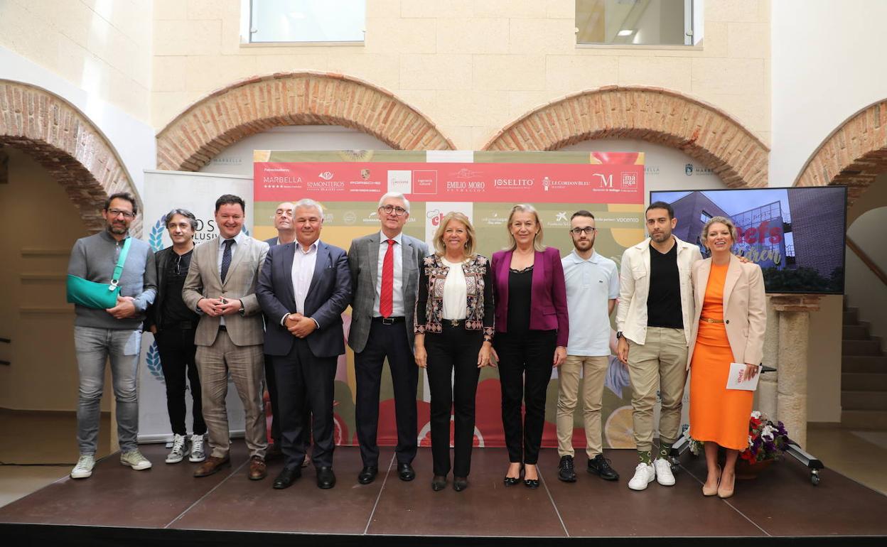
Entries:
<svg viewBox="0 0 887 547">
<path fill-rule="evenodd" d="M 153 250 L 172 245 L 166 231 L 166 215 L 172 208 L 191 211 L 197 217 L 194 243 L 201 245 L 218 237 L 215 220 L 216 199 L 222 194 L 240 196 L 247 203 L 244 231 L 253 226 L 253 181 L 248 176 L 206 175 L 181 171 L 145 171 L 145 238 Z M 153 335 L 145 332 L 142 339 L 142 363 L 138 386 L 138 440 L 139 442 L 167 442 L 172 439 L 166 406 L 166 383 L 163 379 L 161 358 Z M 188 408 L 186 424 L 191 429 L 191 395 L 185 394 Z M 234 435 L 244 429 L 243 405 L 233 384 L 229 383 L 229 426 Z"/>
</svg>

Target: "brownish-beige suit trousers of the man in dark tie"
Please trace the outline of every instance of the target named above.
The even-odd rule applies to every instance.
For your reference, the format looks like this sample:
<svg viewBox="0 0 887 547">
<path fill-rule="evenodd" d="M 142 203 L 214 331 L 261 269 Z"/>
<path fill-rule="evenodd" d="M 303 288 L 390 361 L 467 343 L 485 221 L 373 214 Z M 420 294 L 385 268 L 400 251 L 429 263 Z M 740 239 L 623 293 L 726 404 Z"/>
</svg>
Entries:
<svg viewBox="0 0 887 547">
<path fill-rule="evenodd" d="M 219 332 L 212 346 L 197 347 L 197 370 L 203 390 L 203 420 L 207 423 L 212 456 L 227 457 L 231 448 L 228 429 L 228 374 L 246 413 L 245 434 L 249 456 L 265 457 L 267 430 L 262 405 L 262 346 L 235 346 L 228 332 Z"/>
</svg>

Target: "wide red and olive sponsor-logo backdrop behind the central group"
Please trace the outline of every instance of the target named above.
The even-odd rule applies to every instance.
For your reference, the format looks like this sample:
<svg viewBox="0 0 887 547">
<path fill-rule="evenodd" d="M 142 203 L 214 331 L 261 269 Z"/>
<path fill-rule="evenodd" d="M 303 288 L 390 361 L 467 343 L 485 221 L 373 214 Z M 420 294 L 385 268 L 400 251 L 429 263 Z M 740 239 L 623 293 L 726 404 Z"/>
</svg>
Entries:
<svg viewBox="0 0 887 547">
<path fill-rule="evenodd" d="M 404 233 L 428 242 L 443 215 L 460 211 L 471 219 L 478 252 L 491 256 L 506 246 L 506 222 L 515 203 L 531 203 L 541 216 L 545 243 L 561 255 L 572 251 L 569 217 L 577 209 L 593 212 L 599 230 L 598 253 L 618 264 L 627 246 L 644 238 L 644 155 L 640 152 L 408 152 L 255 151 L 255 237 L 277 235 L 271 221 L 277 205 L 302 198 L 324 207 L 320 238 L 348 249 L 351 240 L 380 230 L 378 201 L 388 191 L 410 199 Z M 343 314 L 345 335 L 350 309 Z M 615 348 L 615 332 L 611 346 Z M 624 368 L 611 358 L 602 418 L 605 443 L 631 448 L 631 393 Z M 556 445 L 557 371 L 548 386 L 544 446 Z M 335 387 L 336 441 L 357 444 L 354 355 L 339 360 Z M 379 442 L 396 444 L 388 367 L 383 372 Z M 429 390 L 424 374 L 416 394 L 420 443 L 430 442 Z M 575 414 L 576 446 L 585 445 L 582 411 Z M 475 445 L 504 446 L 498 372 L 485 368 L 477 390 Z"/>
</svg>

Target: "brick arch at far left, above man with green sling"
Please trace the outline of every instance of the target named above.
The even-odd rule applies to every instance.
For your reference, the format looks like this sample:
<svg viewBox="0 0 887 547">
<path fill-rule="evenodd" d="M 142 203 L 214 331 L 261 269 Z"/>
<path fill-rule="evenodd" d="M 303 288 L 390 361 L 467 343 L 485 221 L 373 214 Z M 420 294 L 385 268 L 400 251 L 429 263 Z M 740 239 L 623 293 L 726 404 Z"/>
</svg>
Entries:
<svg viewBox="0 0 887 547">
<path fill-rule="evenodd" d="M 105 226 L 101 208 L 117 191 L 138 192 L 102 132 L 64 98 L 27 83 L 0 80 L 0 145 L 33 157 L 65 187 L 86 228 Z M 139 201 L 139 210 L 144 210 Z M 131 231 L 139 236 L 141 216 Z"/>
</svg>

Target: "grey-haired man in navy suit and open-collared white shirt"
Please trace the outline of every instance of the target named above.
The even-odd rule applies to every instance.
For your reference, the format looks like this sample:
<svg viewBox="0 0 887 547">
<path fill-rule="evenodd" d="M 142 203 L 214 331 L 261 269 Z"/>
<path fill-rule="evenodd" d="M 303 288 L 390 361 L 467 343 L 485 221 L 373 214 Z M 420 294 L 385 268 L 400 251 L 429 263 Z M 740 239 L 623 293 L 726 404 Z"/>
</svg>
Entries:
<svg viewBox="0 0 887 547">
<path fill-rule="evenodd" d="M 256 290 L 266 317 L 264 352 L 277 379 L 284 468 L 274 488 L 287 488 L 302 474 L 303 426 L 312 415 L 319 488 L 333 488 L 333 391 L 336 361 L 345 353 L 341 312 L 351 301 L 348 257 L 320 241 L 323 212 L 313 199 L 295 203 L 293 243 L 271 247 Z"/>
</svg>

